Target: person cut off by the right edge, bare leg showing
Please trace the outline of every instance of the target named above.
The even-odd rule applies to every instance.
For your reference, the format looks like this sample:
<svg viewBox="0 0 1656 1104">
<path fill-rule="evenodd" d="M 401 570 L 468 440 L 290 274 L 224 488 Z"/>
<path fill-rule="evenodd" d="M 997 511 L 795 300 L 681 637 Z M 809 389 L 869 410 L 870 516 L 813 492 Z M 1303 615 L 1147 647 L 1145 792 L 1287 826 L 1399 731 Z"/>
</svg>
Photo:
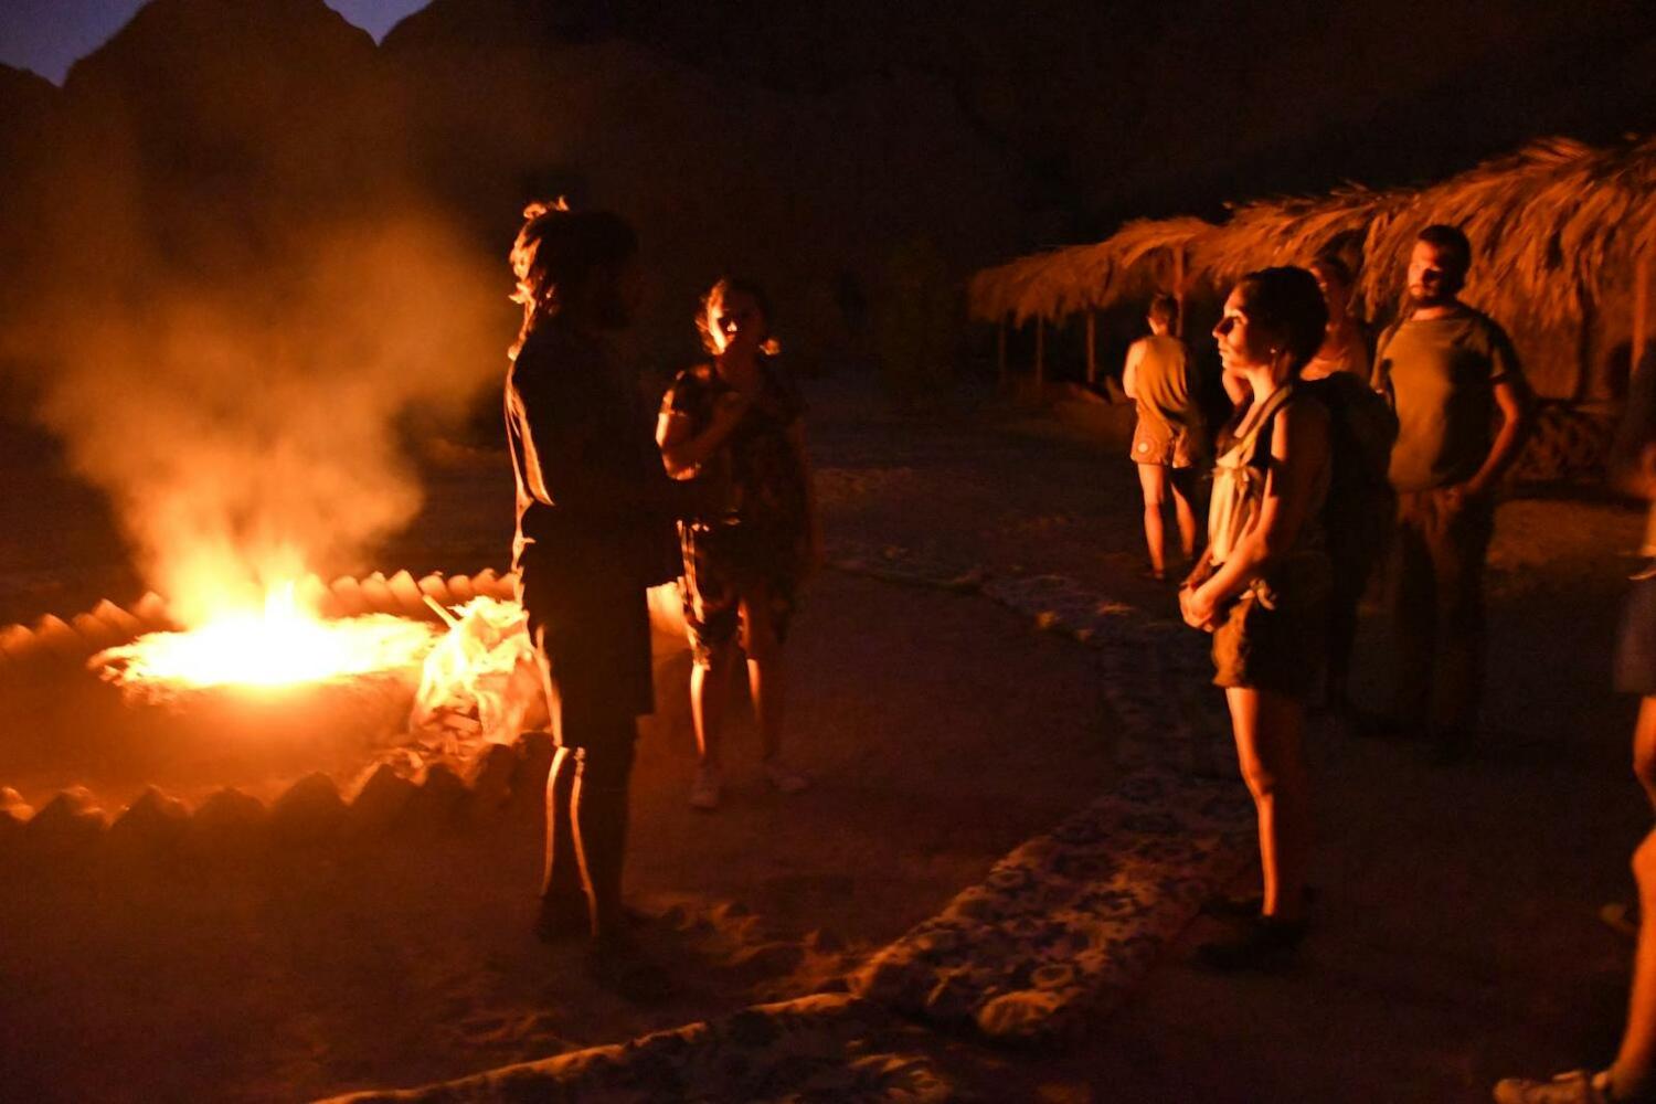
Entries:
<svg viewBox="0 0 1656 1104">
<path fill-rule="evenodd" d="M 1634 372 L 1628 410 L 1611 450 L 1623 490 L 1651 503 L 1641 548 L 1644 564 L 1621 619 L 1615 685 L 1639 697 L 1633 725 L 1633 771 L 1656 806 L 1656 358 Z M 1656 915 L 1656 831 L 1633 852 L 1641 915 Z M 1633 958 L 1628 1023 L 1608 1069 L 1577 1069 L 1552 1081 L 1509 1078 L 1495 1086 L 1500 1104 L 1649 1104 L 1656 1102 L 1656 925 L 1641 924 Z"/>
</svg>

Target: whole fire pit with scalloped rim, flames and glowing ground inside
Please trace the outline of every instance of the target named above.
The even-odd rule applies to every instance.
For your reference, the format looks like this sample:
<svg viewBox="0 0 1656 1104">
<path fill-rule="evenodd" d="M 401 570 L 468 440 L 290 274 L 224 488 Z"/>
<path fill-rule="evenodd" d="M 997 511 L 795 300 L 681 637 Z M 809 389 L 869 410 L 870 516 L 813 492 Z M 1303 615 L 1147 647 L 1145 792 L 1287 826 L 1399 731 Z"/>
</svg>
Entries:
<svg viewBox="0 0 1656 1104">
<path fill-rule="evenodd" d="M 510 578 L 397 573 L 310 578 L 192 632 L 154 596 L 0 629 L 0 785 L 33 803 L 71 785 L 108 804 L 144 786 L 270 799 L 315 771 L 348 781 L 399 745 L 510 740 L 527 710 L 490 664 L 527 655 L 513 617 Z"/>
</svg>

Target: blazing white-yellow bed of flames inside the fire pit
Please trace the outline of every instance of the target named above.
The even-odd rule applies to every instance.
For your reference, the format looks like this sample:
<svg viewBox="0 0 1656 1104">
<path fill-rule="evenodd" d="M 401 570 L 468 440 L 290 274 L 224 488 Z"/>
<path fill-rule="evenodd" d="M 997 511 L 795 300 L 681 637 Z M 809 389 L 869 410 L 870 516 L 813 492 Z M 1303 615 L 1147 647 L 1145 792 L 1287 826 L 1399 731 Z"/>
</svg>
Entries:
<svg viewBox="0 0 1656 1104">
<path fill-rule="evenodd" d="M 93 657 L 109 682 L 166 694 L 202 687 L 286 687 L 416 667 L 437 627 L 373 614 L 325 621 L 295 584 L 270 591 L 263 611 L 212 617 L 187 632 L 151 632 Z"/>
</svg>

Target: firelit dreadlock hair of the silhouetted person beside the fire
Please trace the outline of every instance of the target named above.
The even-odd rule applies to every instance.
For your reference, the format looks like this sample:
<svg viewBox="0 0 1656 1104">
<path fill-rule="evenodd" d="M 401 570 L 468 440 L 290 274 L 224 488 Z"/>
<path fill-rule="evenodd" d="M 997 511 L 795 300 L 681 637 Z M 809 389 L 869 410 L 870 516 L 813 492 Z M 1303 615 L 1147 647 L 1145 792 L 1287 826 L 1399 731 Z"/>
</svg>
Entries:
<svg viewBox="0 0 1656 1104">
<path fill-rule="evenodd" d="M 523 209 L 523 227 L 512 242 L 513 303 L 523 305 L 523 326 L 510 356 L 528 339 L 535 323 L 551 318 L 576 296 L 599 265 L 624 262 L 638 253 L 638 235 L 608 210 L 570 210 L 560 197 Z"/>
</svg>

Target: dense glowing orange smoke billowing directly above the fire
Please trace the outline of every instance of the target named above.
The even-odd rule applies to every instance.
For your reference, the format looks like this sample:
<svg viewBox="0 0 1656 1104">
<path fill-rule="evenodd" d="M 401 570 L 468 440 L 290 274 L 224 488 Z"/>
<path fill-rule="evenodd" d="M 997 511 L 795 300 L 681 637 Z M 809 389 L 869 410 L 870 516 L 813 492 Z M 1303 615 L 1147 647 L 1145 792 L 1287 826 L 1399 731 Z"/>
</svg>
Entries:
<svg viewBox="0 0 1656 1104">
<path fill-rule="evenodd" d="M 58 316 L 40 412 L 151 584 L 200 621 L 414 516 L 401 419 L 460 414 L 498 379 L 489 276 L 440 223 L 399 217 L 280 278 L 151 285 L 137 311 Z"/>
</svg>

